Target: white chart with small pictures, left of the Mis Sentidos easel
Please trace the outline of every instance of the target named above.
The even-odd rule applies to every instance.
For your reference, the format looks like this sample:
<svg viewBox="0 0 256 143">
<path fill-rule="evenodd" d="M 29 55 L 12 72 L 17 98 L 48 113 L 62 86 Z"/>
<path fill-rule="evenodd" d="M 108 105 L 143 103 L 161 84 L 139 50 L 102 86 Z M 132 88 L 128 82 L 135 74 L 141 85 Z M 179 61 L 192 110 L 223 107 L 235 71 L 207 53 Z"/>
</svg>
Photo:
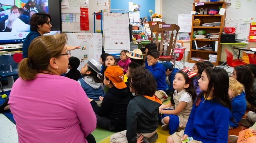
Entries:
<svg viewBox="0 0 256 143">
<path fill-rule="evenodd" d="M 80 60 L 81 67 L 91 59 L 99 61 L 102 54 L 102 35 L 100 33 L 67 33 L 67 45 L 80 45 L 81 49 L 71 51 L 71 56 Z"/>
</svg>

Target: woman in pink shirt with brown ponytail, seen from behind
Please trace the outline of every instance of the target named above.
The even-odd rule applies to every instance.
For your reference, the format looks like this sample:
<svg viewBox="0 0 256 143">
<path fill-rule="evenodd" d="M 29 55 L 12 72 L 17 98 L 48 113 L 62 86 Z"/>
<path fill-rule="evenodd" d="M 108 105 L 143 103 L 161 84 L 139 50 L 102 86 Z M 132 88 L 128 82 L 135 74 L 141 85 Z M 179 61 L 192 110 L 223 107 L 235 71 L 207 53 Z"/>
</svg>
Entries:
<svg viewBox="0 0 256 143">
<path fill-rule="evenodd" d="M 66 41 L 66 34 L 39 36 L 20 62 L 8 102 L 19 143 L 95 142 L 96 117 L 83 88 L 59 76 L 68 67 Z"/>
</svg>

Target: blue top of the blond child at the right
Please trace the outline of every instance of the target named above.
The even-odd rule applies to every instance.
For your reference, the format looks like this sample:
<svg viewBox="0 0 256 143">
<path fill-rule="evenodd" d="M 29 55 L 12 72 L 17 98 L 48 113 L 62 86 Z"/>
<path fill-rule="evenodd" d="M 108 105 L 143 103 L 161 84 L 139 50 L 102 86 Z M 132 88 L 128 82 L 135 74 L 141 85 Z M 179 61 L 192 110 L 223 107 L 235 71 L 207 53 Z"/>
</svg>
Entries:
<svg viewBox="0 0 256 143">
<path fill-rule="evenodd" d="M 229 121 L 229 126 L 235 128 L 238 126 L 238 123 L 240 122 L 240 120 L 242 119 L 246 111 L 246 100 L 245 100 L 244 92 L 234 97 L 231 101 L 231 104 L 232 104 L 232 116 L 234 118 L 234 121 L 236 121 L 236 123 Z"/>
</svg>

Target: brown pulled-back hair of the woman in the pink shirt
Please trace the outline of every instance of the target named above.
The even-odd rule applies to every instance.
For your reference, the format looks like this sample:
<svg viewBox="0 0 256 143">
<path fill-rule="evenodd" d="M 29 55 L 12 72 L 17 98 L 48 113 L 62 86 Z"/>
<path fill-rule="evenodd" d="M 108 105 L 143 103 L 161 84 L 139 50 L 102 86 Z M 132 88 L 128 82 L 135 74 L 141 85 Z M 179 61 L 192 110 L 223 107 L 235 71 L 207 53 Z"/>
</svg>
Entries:
<svg viewBox="0 0 256 143">
<path fill-rule="evenodd" d="M 59 57 L 66 45 L 66 34 L 38 36 L 29 45 L 28 57 L 20 62 L 19 76 L 33 80 L 39 70 L 47 70 L 50 59 Z"/>
</svg>

